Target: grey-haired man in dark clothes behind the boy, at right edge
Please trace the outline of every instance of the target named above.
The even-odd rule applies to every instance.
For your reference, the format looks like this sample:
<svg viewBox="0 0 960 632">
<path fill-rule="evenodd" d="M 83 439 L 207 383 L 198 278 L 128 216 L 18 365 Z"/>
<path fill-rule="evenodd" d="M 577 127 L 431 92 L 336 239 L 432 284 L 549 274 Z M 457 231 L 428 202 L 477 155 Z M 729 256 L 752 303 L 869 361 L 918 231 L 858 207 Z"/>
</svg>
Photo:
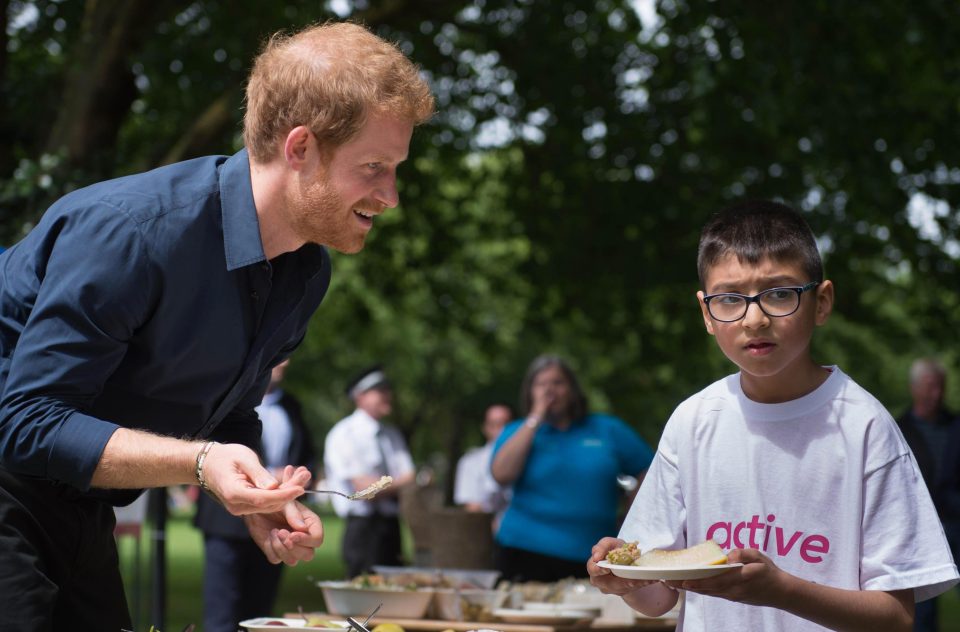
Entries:
<svg viewBox="0 0 960 632">
<path fill-rule="evenodd" d="M 947 372 L 932 358 L 910 366 L 910 408 L 897 419 L 930 490 L 954 560 L 960 553 L 960 416 L 944 405 Z M 937 600 L 918 602 L 913 629 L 936 632 Z"/>
</svg>

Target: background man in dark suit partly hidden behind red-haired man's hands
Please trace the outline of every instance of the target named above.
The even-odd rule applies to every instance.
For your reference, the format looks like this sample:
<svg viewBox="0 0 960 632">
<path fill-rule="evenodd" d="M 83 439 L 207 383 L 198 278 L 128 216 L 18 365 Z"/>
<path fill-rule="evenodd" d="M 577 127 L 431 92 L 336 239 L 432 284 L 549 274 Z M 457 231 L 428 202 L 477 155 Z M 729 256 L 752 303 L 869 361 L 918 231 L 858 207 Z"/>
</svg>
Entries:
<svg viewBox="0 0 960 632">
<path fill-rule="evenodd" d="M 264 467 L 280 478 L 288 465 L 315 465 L 313 440 L 300 403 L 280 387 L 289 360 L 275 366 L 257 406 Z M 207 494 L 200 494 L 194 520 L 203 531 L 203 629 L 236 632 L 240 622 L 273 611 L 283 566 L 271 564 L 250 539 L 243 519 L 231 515 Z"/>
</svg>

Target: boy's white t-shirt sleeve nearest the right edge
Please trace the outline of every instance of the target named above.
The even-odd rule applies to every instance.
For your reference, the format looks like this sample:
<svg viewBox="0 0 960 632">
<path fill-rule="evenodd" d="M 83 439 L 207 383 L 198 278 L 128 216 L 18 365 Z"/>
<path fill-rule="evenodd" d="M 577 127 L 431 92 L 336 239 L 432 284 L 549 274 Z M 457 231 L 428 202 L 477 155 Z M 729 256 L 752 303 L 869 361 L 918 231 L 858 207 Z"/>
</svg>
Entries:
<svg viewBox="0 0 960 632">
<path fill-rule="evenodd" d="M 957 583 L 933 501 L 909 455 L 864 479 L 861 585 L 865 590 L 914 588 L 917 601 Z"/>
</svg>

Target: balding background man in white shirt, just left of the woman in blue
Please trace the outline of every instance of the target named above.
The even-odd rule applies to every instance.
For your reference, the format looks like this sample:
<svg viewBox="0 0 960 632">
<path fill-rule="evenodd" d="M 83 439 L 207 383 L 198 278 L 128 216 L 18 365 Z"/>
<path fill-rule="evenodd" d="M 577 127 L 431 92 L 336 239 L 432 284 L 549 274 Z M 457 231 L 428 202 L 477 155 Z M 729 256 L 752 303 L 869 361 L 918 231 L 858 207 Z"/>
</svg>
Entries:
<svg viewBox="0 0 960 632">
<path fill-rule="evenodd" d="M 494 525 L 510 502 L 510 488 L 503 487 L 490 473 L 493 445 L 503 427 L 513 419 L 513 411 L 506 404 L 487 407 L 483 417 L 483 436 L 486 444 L 468 450 L 457 462 L 454 479 L 453 502 L 467 511 L 494 514 Z"/>
</svg>

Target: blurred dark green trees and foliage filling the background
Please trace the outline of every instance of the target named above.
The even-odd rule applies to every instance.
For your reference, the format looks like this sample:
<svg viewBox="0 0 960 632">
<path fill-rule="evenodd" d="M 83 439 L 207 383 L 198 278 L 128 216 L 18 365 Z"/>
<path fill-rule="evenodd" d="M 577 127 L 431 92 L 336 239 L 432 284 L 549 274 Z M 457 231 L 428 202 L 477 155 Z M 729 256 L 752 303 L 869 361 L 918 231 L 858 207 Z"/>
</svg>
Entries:
<svg viewBox="0 0 960 632">
<path fill-rule="evenodd" d="M 384 362 L 420 460 L 479 443 L 538 353 L 655 442 L 732 371 L 696 305 L 699 229 L 802 208 L 836 311 L 814 342 L 898 414 L 918 355 L 960 404 L 960 5 L 681 0 L 0 0 L 0 243 L 64 192 L 240 147 L 264 39 L 327 19 L 399 43 L 439 114 L 401 207 L 334 281 L 290 390 L 322 437 Z M 198 278 L 202 282 L 202 278 Z M 319 439 L 318 439 L 319 440 Z"/>
</svg>

